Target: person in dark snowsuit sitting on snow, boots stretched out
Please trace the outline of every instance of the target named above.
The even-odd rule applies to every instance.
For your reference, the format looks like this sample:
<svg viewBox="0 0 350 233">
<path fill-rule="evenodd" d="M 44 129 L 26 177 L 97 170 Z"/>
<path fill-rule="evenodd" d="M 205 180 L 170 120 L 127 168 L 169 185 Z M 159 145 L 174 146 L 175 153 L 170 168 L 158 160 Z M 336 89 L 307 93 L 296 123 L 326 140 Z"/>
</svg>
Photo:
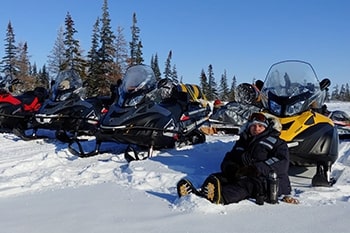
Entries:
<svg viewBox="0 0 350 233">
<path fill-rule="evenodd" d="M 255 198 L 258 204 L 263 204 L 268 201 L 267 178 L 271 171 L 279 179 L 278 195 L 289 195 L 289 150 L 279 138 L 281 129 L 276 117 L 262 112 L 251 114 L 241 128 L 239 140 L 226 153 L 221 171 L 209 175 L 198 190 L 188 179 L 181 179 L 177 184 L 179 197 L 194 193 L 224 205 Z"/>
</svg>

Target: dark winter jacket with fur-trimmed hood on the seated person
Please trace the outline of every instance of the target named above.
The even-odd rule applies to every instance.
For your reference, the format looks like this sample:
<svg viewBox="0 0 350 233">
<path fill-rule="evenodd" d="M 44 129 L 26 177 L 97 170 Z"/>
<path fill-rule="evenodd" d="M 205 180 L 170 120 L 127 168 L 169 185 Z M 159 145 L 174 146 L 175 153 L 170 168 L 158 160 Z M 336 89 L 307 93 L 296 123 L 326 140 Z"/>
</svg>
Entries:
<svg viewBox="0 0 350 233">
<path fill-rule="evenodd" d="M 252 176 L 264 181 L 274 170 L 279 177 L 279 195 L 288 195 L 291 192 L 288 146 L 279 138 L 279 121 L 270 116 L 269 122 L 266 130 L 255 137 L 250 135 L 248 126 L 244 128 L 232 150 L 226 153 L 221 171 L 231 180 Z"/>
</svg>

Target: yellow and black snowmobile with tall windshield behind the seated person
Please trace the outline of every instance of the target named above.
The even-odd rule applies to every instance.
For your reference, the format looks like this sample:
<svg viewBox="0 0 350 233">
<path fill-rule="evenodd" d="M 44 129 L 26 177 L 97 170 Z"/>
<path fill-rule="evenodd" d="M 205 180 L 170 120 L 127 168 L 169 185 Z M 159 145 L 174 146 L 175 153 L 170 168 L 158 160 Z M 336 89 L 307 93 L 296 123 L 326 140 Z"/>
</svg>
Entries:
<svg viewBox="0 0 350 233">
<path fill-rule="evenodd" d="M 331 166 L 338 158 L 338 132 L 322 111 L 330 80 L 319 82 L 313 67 L 304 61 L 273 64 L 259 98 L 263 111 L 279 118 L 280 137 L 290 150 L 293 165 L 317 167 L 312 186 L 330 186 Z"/>
</svg>

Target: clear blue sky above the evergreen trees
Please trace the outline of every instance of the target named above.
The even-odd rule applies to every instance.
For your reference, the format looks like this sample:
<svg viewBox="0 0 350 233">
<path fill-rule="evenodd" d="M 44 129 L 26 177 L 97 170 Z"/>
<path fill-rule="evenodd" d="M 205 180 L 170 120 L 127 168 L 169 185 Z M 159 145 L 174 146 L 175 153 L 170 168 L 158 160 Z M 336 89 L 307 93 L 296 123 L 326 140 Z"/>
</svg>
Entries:
<svg viewBox="0 0 350 233">
<path fill-rule="evenodd" d="M 27 42 L 31 61 L 47 61 L 69 12 L 82 49 L 91 46 L 93 24 L 103 0 L 3 0 L 0 9 L 0 57 L 4 56 L 7 24 L 16 43 Z M 184 82 L 199 83 L 212 64 L 219 82 L 264 79 L 275 62 L 310 62 L 319 79 L 349 82 L 350 1 L 347 0 L 109 0 L 111 27 L 124 28 L 130 41 L 135 12 L 145 63 L 158 55 L 161 72 L 170 50 L 172 65 Z M 230 83 L 229 83 L 230 84 Z"/>
</svg>

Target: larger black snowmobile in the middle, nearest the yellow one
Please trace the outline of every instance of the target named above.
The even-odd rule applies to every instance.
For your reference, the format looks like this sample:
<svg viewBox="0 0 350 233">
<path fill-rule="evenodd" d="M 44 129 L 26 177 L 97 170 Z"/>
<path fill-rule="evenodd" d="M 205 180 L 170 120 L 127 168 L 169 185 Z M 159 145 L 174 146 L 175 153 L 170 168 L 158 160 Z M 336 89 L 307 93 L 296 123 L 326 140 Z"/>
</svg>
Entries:
<svg viewBox="0 0 350 233">
<path fill-rule="evenodd" d="M 103 142 L 126 144 L 128 161 L 152 156 L 154 149 L 205 142 L 199 127 L 208 119 L 210 108 L 190 101 L 190 90 L 183 91 L 168 79 L 156 82 L 153 70 L 145 65 L 128 68 L 117 88 L 116 101 L 102 118 L 96 132 L 96 147 L 85 152 L 76 140 L 69 148 L 80 157 L 103 152 Z"/>
</svg>

